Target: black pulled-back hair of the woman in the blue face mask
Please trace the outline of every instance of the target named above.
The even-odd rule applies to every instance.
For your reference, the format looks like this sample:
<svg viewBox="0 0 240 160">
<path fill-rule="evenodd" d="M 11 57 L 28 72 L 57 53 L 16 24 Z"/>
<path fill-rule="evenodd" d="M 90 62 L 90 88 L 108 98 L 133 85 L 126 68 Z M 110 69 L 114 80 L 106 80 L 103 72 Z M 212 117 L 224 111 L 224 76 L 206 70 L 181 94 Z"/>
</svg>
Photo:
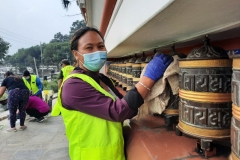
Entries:
<svg viewBox="0 0 240 160">
<path fill-rule="evenodd" d="M 104 38 L 102 36 L 102 34 L 100 33 L 99 30 L 97 30 L 96 28 L 93 27 L 83 27 L 80 28 L 79 30 L 77 30 L 72 38 L 71 38 L 71 50 L 77 50 L 78 49 L 78 40 L 87 32 L 89 31 L 94 31 L 97 34 L 99 34 L 99 36 L 102 38 L 103 42 L 104 42 Z"/>
</svg>

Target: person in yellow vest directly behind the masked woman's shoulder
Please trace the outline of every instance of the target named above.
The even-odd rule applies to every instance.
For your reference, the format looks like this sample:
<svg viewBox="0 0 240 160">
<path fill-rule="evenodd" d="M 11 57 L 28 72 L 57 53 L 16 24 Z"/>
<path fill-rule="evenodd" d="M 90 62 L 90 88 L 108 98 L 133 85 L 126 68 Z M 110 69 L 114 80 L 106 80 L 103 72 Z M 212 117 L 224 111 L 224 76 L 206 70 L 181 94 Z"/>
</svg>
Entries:
<svg viewBox="0 0 240 160">
<path fill-rule="evenodd" d="M 61 87 L 63 80 L 71 73 L 74 69 L 73 66 L 70 65 L 69 61 L 67 59 L 63 59 L 61 61 L 61 72 L 58 78 L 58 89 Z"/>
</svg>

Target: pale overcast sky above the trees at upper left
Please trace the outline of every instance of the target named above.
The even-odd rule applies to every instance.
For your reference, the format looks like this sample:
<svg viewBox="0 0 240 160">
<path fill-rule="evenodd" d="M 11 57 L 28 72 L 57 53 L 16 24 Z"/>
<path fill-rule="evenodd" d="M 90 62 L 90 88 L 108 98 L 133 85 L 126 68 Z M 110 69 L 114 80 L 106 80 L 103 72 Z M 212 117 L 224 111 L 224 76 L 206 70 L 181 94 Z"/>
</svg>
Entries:
<svg viewBox="0 0 240 160">
<path fill-rule="evenodd" d="M 69 34 L 76 20 L 83 17 L 75 1 L 66 11 L 61 0 L 0 0 L 0 37 L 11 44 L 10 55 L 48 43 L 57 32 Z"/>
</svg>

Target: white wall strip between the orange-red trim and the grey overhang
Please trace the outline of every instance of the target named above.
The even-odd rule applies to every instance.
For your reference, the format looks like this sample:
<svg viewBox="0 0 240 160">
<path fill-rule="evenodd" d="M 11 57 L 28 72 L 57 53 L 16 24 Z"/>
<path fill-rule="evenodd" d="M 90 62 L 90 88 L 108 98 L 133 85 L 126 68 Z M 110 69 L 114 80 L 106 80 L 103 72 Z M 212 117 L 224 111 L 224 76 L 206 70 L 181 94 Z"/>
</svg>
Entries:
<svg viewBox="0 0 240 160">
<path fill-rule="evenodd" d="M 118 0 L 105 35 L 105 45 L 108 52 L 173 1 L 174 0 Z"/>
</svg>

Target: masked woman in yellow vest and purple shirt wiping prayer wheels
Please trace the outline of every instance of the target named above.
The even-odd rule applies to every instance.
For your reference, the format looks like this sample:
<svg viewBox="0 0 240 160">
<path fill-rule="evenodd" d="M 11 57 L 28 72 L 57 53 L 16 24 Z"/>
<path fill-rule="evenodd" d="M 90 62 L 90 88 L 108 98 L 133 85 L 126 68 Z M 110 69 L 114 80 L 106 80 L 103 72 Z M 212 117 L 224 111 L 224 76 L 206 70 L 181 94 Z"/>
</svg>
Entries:
<svg viewBox="0 0 240 160">
<path fill-rule="evenodd" d="M 74 33 L 71 50 L 79 66 L 59 90 L 52 115 L 62 115 L 72 160 L 124 160 L 122 124 L 137 114 L 151 87 L 172 62 L 163 54 L 148 64 L 139 83 L 124 97 L 99 73 L 107 59 L 100 32 L 85 27 Z"/>
</svg>

